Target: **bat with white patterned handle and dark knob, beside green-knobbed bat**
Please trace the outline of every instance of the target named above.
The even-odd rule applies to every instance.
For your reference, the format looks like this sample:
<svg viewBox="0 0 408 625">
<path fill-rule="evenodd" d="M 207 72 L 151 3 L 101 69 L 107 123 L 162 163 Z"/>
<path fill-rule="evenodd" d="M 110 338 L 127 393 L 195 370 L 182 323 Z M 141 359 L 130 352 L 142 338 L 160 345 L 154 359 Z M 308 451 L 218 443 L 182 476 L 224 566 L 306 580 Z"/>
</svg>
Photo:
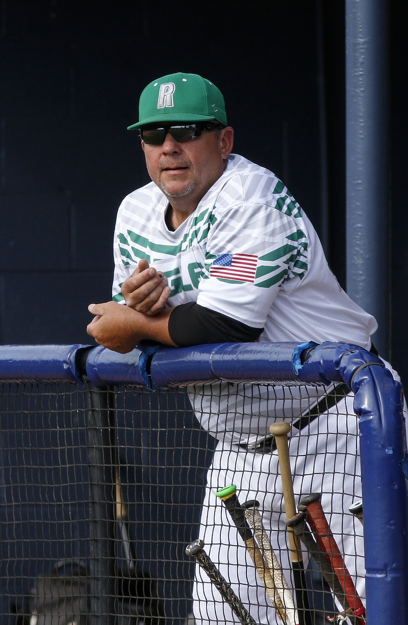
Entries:
<svg viewBox="0 0 408 625">
<path fill-rule="evenodd" d="M 275 587 L 275 602 L 277 605 L 282 606 L 282 609 L 286 610 L 287 625 L 296 625 L 299 623 L 297 609 L 293 602 L 293 597 L 291 595 L 291 591 L 289 590 L 287 581 L 284 577 L 281 564 L 277 559 L 276 553 L 272 549 L 269 536 L 267 535 L 262 523 L 261 513 L 259 512 L 259 502 L 255 499 L 246 501 L 241 507 L 244 509 L 246 519 L 252 529 L 257 544 L 261 549 L 264 562 L 271 573 Z"/>
</svg>

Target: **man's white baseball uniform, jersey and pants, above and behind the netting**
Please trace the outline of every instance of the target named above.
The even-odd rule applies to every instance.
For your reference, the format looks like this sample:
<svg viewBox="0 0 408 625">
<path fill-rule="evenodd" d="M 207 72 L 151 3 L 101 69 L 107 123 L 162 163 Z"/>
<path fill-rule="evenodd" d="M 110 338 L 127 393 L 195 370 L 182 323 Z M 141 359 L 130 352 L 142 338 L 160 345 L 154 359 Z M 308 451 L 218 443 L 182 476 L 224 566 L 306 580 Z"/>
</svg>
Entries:
<svg viewBox="0 0 408 625">
<path fill-rule="evenodd" d="M 370 346 L 376 320 L 342 291 L 309 219 L 273 173 L 232 154 L 221 178 L 174 232 L 166 226 L 166 209 L 167 199 L 153 183 L 122 202 L 114 240 L 115 301 L 123 301 L 122 282 L 146 258 L 166 274 L 172 289 L 170 306 L 196 301 L 248 326 L 263 328 L 259 341 L 345 341 Z M 277 617 L 215 492 L 234 483 L 242 501 L 261 502 L 264 526 L 274 548 L 281 549 L 287 572 L 289 552 L 277 454 L 247 452 L 235 443 L 253 443 L 269 434 L 276 418 L 290 420 L 306 411 L 310 396 L 316 397 L 318 391 L 299 388 L 219 382 L 189 389 L 202 426 L 221 440 L 207 473 L 197 536 L 262 624 L 277 622 Z M 309 401 L 301 400 L 300 392 Z M 282 401 L 286 395 L 294 401 Z M 361 492 L 352 397 L 343 399 L 332 413 L 323 415 L 323 421 L 316 419 L 290 441 L 296 497 L 322 492 L 327 511 L 333 493 L 343 493 L 349 504 Z M 357 591 L 362 593 L 362 531 L 352 527 L 351 515 L 339 513 L 341 505 L 336 501 L 331 527 L 337 537 L 344 534 L 344 553 L 354 554 L 346 557 L 346 564 L 352 574 L 359 572 Z M 211 582 L 197 566 L 193 591 L 197 625 L 238 622 L 214 594 Z"/>
</svg>

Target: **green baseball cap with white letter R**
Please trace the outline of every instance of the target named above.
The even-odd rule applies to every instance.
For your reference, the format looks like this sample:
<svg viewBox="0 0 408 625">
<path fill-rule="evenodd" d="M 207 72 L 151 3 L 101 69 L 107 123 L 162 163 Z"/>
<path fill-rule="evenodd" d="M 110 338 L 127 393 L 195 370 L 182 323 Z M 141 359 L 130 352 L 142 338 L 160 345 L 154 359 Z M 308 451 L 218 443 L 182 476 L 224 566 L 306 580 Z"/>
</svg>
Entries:
<svg viewBox="0 0 408 625">
<path fill-rule="evenodd" d="M 152 81 L 139 100 L 139 121 L 128 130 L 146 124 L 210 121 L 227 126 L 224 98 L 215 84 L 197 74 L 169 74 Z"/>
</svg>

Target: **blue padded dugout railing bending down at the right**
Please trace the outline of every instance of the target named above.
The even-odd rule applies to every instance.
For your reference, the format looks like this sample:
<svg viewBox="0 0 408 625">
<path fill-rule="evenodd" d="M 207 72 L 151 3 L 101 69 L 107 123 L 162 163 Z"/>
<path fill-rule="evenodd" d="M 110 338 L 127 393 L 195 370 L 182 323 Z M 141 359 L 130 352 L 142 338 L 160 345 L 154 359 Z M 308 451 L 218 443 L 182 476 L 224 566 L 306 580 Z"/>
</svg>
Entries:
<svg viewBox="0 0 408 625">
<path fill-rule="evenodd" d="M 306 357 L 307 356 L 307 357 Z M 347 343 L 141 345 L 126 355 L 85 345 L 0 346 L 0 381 L 155 388 L 194 382 L 346 382 L 361 434 L 367 622 L 408 614 L 407 445 L 403 389 L 382 360 Z"/>
</svg>

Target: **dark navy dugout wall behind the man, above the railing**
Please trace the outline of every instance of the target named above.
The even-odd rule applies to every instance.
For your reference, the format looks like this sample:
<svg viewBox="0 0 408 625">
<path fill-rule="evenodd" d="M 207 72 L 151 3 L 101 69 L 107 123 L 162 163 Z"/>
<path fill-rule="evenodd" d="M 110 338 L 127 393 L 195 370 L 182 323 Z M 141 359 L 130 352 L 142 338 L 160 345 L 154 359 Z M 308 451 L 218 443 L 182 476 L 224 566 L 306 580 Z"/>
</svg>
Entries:
<svg viewBox="0 0 408 625">
<path fill-rule="evenodd" d="M 402 0 L 389 12 L 391 357 L 407 380 Z M 147 181 L 126 127 L 142 88 L 174 71 L 219 86 L 234 151 L 281 176 L 345 286 L 344 2 L 2 0 L 0 19 L 0 342 L 90 342 L 117 206 Z"/>
</svg>

